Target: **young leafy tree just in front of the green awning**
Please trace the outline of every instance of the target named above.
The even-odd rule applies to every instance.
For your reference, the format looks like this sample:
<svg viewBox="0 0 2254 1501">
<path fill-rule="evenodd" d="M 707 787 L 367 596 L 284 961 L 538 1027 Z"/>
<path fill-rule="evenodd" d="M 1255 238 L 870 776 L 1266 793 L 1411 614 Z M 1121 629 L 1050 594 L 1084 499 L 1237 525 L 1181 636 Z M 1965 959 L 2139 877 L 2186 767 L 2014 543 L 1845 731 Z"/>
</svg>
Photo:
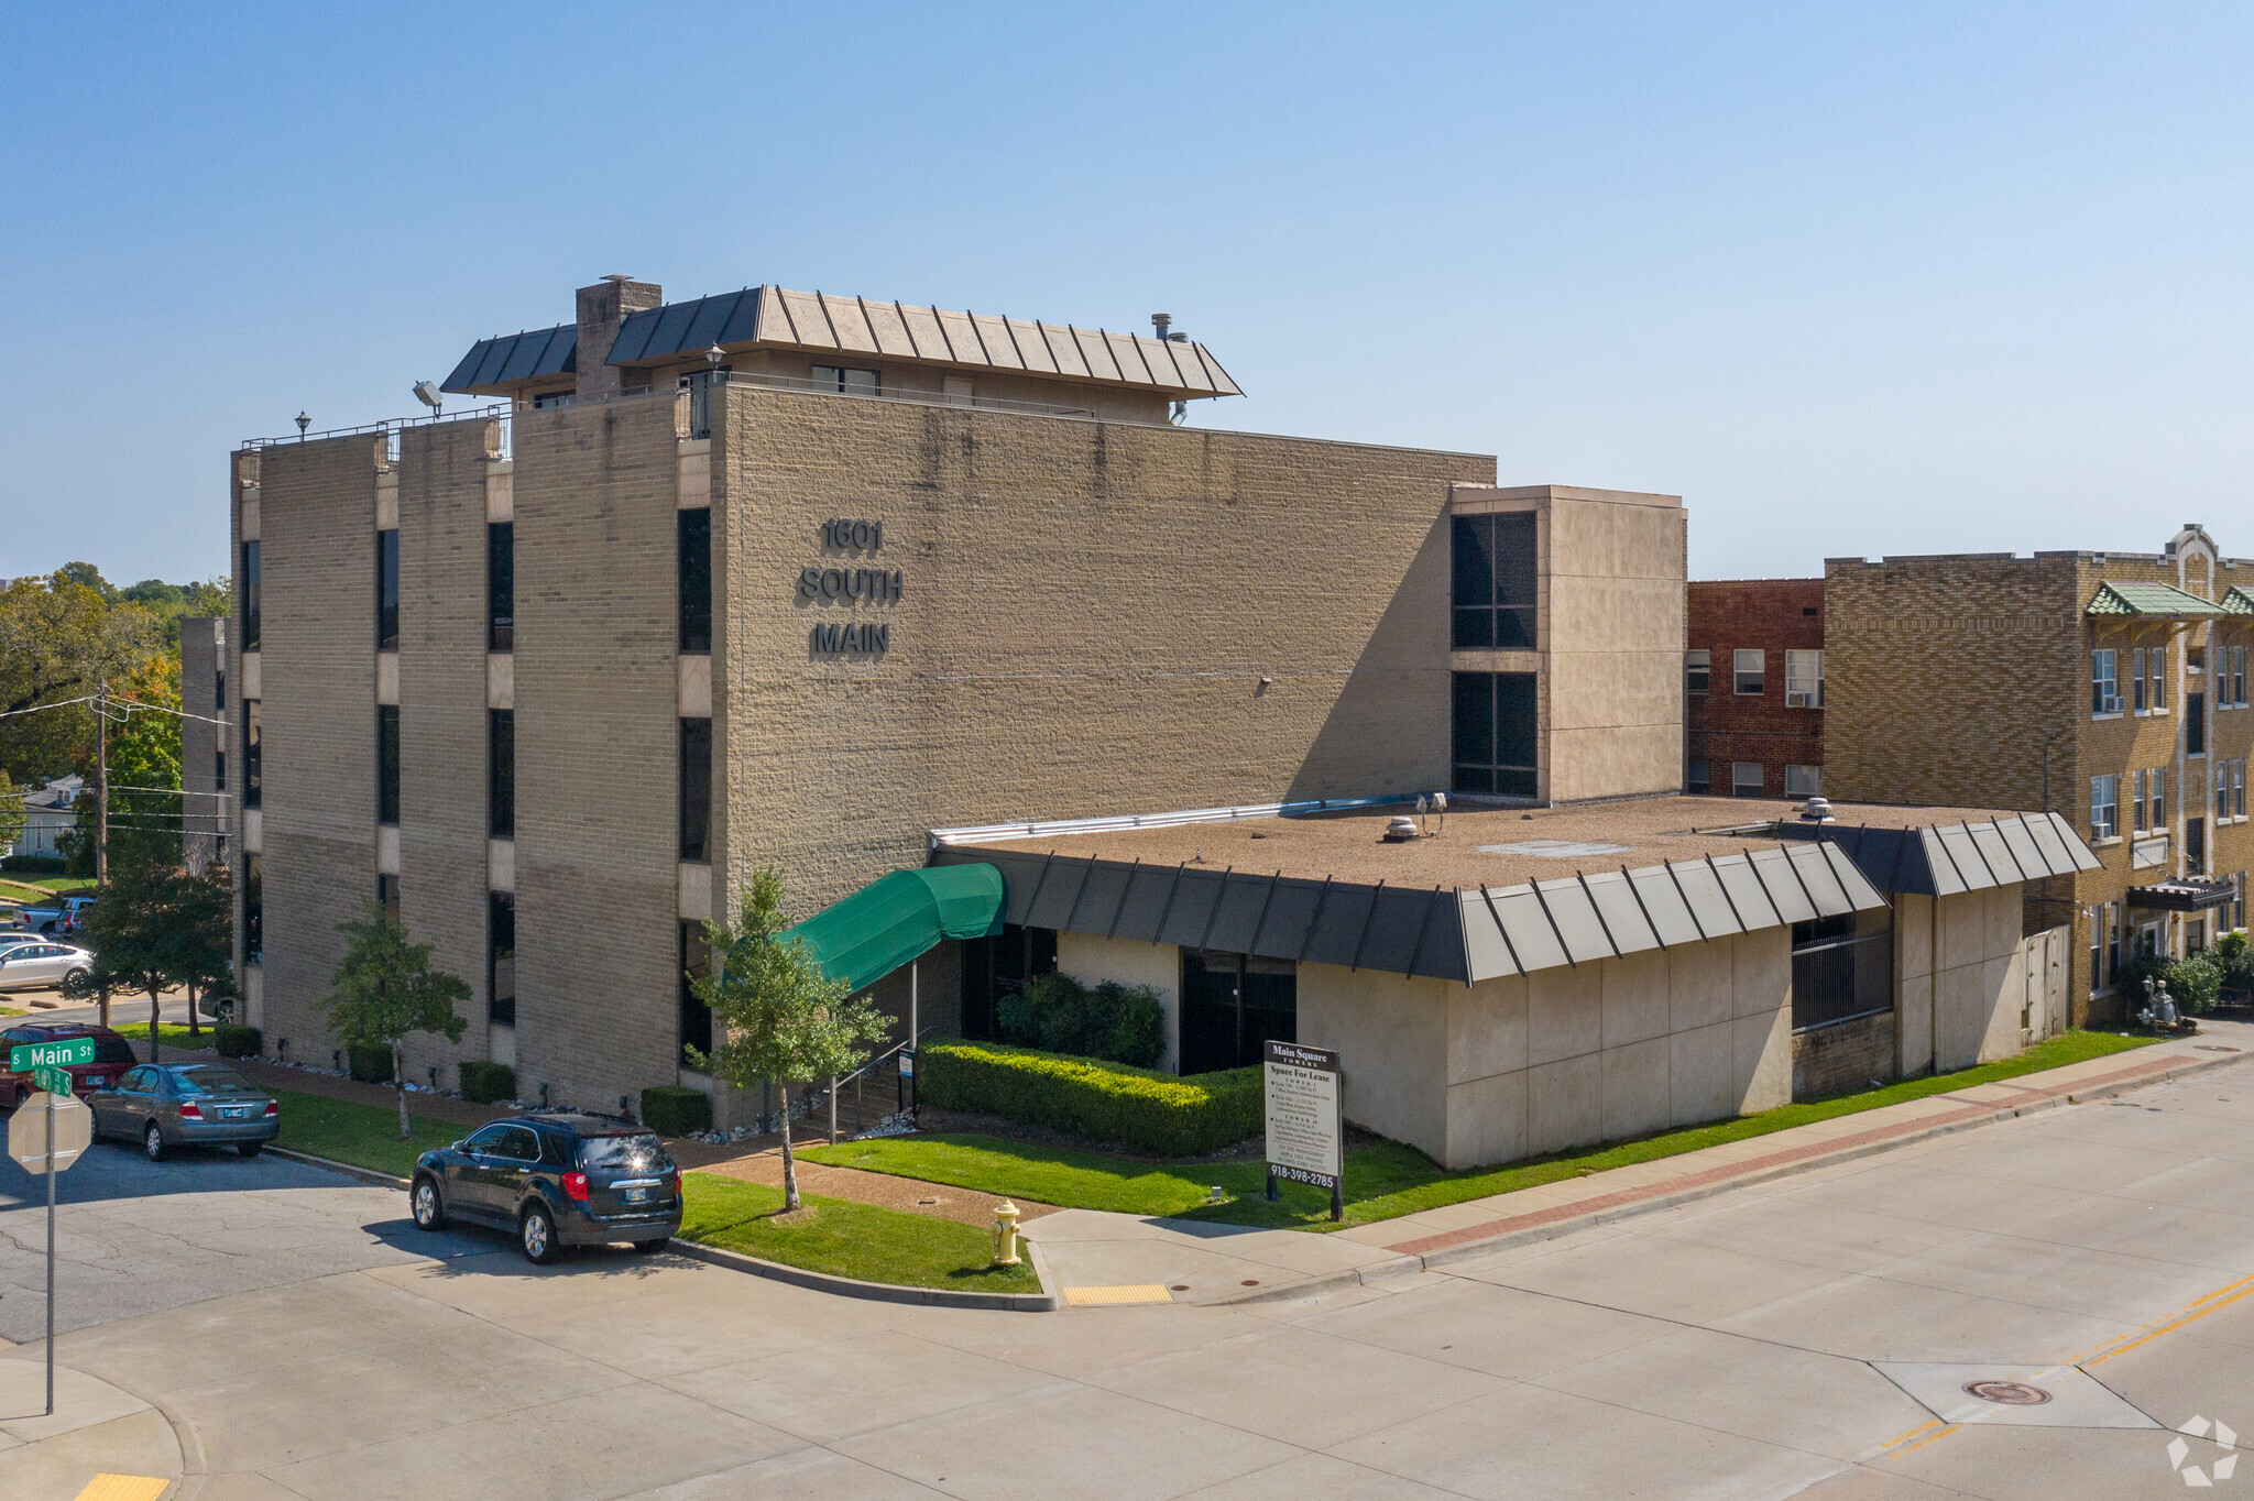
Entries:
<svg viewBox="0 0 2254 1501">
<path fill-rule="evenodd" d="M 690 1062 L 730 1089 L 773 1080 L 782 1086 L 782 1208 L 798 1208 L 798 1163 L 791 1158 L 791 1080 L 829 1080 L 868 1059 L 868 1043 L 886 1021 L 863 996 L 814 962 L 802 938 L 778 938 L 782 872 L 760 870 L 744 892 L 739 924 L 706 924 L 712 971 L 690 976 L 696 998 L 712 1007 L 719 1046 L 710 1055 L 687 1048 Z"/>
</svg>

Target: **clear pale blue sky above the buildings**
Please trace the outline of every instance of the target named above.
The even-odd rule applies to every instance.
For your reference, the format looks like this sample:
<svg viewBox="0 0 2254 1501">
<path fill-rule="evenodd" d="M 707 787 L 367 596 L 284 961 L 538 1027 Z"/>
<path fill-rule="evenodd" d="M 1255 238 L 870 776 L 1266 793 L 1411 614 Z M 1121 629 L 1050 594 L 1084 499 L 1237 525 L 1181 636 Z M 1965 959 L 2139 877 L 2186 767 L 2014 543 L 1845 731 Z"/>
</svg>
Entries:
<svg viewBox="0 0 2254 1501">
<path fill-rule="evenodd" d="M 1661 489 L 1693 577 L 2247 514 L 2247 7 L 32 7 L 0 575 L 624 270 L 1147 327 L 1199 426 Z"/>
</svg>

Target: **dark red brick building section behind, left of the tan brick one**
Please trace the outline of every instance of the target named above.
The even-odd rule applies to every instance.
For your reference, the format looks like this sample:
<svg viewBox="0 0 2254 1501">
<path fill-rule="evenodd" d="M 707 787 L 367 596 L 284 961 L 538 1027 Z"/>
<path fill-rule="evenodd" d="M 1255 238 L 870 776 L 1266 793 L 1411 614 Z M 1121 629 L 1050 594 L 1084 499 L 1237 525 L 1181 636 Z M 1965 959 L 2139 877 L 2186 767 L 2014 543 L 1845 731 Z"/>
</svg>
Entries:
<svg viewBox="0 0 2254 1501">
<path fill-rule="evenodd" d="M 1684 787 L 1823 791 L 1823 579 L 1690 584 Z"/>
</svg>

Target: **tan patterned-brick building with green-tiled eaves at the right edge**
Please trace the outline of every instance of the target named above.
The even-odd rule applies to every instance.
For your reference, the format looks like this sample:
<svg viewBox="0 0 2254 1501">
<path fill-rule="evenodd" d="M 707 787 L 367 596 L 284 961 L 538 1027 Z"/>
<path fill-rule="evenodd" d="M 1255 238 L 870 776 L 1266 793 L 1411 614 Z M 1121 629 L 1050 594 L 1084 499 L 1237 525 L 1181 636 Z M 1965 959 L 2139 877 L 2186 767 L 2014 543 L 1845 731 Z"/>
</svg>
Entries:
<svg viewBox="0 0 2254 1501">
<path fill-rule="evenodd" d="M 2040 883 L 2074 924 L 2076 1021 L 2114 971 L 2245 926 L 2254 561 L 2186 525 L 2155 554 L 1830 559 L 1826 793 L 2056 809 L 2103 861 Z"/>
</svg>

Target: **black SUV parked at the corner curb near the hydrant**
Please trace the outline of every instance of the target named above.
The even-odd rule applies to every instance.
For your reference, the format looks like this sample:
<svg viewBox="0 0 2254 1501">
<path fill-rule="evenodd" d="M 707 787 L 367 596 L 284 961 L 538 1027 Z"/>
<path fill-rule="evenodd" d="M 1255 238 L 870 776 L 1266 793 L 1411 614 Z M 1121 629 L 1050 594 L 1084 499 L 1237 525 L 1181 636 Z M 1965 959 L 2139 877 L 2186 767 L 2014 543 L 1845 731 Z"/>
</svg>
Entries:
<svg viewBox="0 0 2254 1501">
<path fill-rule="evenodd" d="M 424 1152 L 408 1201 L 424 1231 L 449 1217 L 516 1231 L 527 1262 L 618 1240 L 660 1251 L 681 1231 L 681 1167 L 620 1116 L 509 1116 Z"/>
</svg>

